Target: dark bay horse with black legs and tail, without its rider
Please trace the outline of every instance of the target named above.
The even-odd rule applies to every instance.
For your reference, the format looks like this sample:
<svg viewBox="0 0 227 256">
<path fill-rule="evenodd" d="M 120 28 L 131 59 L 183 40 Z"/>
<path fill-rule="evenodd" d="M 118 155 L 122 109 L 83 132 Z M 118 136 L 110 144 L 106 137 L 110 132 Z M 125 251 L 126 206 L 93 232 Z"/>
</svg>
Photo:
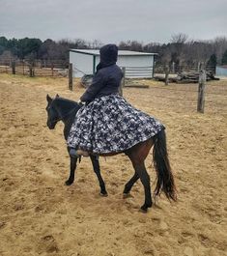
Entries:
<svg viewBox="0 0 227 256">
<path fill-rule="evenodd" d="M 68 135 L 71 130 L 71 125 L 74 121 L 76 112 L 81 107 L 75 101 L 67 100 L 60 98 L 58 95 L 55 99 L 51 99 L 48 95 L 46 96 L 47 100 L 47 127 L 50 129 L 55 128 L 56 124 L 59 121 L 62 121 L 65 124 L 64 128 L 64 136 L 67 140 Z M 132 148 L 126 150 L 125 152 L 120 152 L 118 154 L 124 153 L 126 154 L 129 159 L 131 160 L 132 166 L 135 170 L 134 175 L 125 185 L 124 195 L 127 196 L 131 190 L 132 185 L 140 179 L 142 185 L 144 186 L 145 191 L 145 202 L 141 209 L 143 211 L 147 211 L 148 208 L 152 207 L 152 192 L 151 192 L 151 185 L 150 185 L 150 177 L 147 173 L 145 167 L 145 159 L 148 156 L 151 148 L 153 148 L 153 161 L 156 169 L 156 188 L 155 188 L 155 196 L 159 195 L 161 191 L 164 192 L 168 199 L 172 199 L 174 201 L 177 200 L 176 196 L 176 188 L 174 183 L 174 177 L 171 171 L 167 149 L 166 149 L 166 138 L 165 138 L 165 131 L 162 129 L 159 131 L 156 136 L 136 144 Z M 68 152 L 70 154 L 70 148 L 68 148 Z M 105 154 L 100 156 L 114 156 L 114 154 Z M 99 168 L 99 156 L 90 154 L 90 158 L 93 164 L 94 171 L 99 179 L 99 186 L 100 186 L 100 194 L 103 196 L 107 196 L 107 192 L 105 189 L 105 184 L 103 179 L 100 175 L 100 168 Z M 76 169 L 78 157 L 71 156 L 71 174 L 69 179 L 66 181 L 66 185 L 71 185 L 74 181 L 74 173 Z"/>
</svg>

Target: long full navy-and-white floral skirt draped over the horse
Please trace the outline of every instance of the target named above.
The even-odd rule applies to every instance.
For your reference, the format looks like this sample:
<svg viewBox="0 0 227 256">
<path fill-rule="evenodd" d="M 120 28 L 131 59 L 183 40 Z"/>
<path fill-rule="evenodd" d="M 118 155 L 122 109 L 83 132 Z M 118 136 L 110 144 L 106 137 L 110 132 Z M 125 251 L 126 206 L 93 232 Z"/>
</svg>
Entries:
<svg viewBox="0 0 227 256">
<path fill-rule="evenodd" d="M 93 100 L 79 109 L 71 126 L 68 146 L 94 154 L 119 153 L 146 141 L 163 127 L 119 95 Z"/>
</svg>

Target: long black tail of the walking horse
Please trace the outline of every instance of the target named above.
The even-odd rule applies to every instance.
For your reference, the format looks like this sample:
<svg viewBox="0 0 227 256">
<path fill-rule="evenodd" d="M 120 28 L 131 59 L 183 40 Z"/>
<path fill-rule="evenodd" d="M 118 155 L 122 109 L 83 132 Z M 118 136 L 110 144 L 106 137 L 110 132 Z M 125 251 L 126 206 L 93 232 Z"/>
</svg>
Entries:
<svg viewBox="0 0 227 256">
<path fill-rule="evenodd" d="M 169 200 L 172 199 L 176 201 L 176 187 L 168 159 L 165 130 L 162 129 L 159 131 L 153 139 L 153 162 L 156 168 L 157 177 L 155 196 L 163 191 Z"/>
</svg>

